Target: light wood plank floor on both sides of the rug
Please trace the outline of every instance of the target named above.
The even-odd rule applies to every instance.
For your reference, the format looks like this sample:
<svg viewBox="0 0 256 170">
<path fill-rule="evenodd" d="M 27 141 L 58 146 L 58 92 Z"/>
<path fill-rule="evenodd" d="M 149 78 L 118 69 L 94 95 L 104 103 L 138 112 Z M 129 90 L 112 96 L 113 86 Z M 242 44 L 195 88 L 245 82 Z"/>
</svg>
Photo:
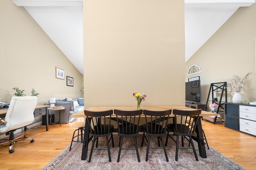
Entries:
<svg viewBox="0 0 256 170">
<path fill-rule="evenodd" d="M 83 121 L 78 119 L 77 121 Z M 72 123 L 74 123 L 72 122 Z M 256 137 L 246 135 L 224 127 L 224 123 L 205 121 L 203 129 L 206 133 L 208 144 L 234 160 L 248 170 L 256 170 Z M 46 131 L 45 126 L 29 129 L 25 134 L 34 137 L 34 143 L 29 139 L 18 141 L 14 144 L 14 153 L 8 152 L 8 147 L 0 147 L 1 170 L 41 170 L 59 152 L 70 144 L 73 132 L 72 123 L 54 124 Z M 16 134 L 18 135 L 18 134 Z M 16 136 L 15 135 L 15 136 Z"/>
</svg>

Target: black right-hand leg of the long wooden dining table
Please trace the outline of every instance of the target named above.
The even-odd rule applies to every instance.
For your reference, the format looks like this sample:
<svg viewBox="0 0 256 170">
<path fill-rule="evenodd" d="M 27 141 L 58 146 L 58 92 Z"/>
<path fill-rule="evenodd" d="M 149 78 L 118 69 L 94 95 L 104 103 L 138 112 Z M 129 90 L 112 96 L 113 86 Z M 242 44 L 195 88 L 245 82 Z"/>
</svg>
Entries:
<svg viewBox="0 0 256 170">
<path fill-rule="evenodd" d="M 202 158 L 207 158 L 206 150 L 205 150 L 205 146 L 204 146 L 204 136 L 203 136 L 201 118 L 198 119 L 198 123 L 196 126 L 196 141 L 198 143 L 198 150 L 199 150 L 200 156 Z"/>
</svg>

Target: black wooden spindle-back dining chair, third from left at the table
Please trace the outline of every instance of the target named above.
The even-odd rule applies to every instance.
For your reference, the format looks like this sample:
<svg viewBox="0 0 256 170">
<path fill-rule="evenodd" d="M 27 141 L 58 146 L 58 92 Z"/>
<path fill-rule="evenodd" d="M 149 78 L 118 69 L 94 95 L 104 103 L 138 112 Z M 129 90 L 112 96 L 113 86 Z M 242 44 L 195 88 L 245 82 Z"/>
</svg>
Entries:
<svg viewBox="0 0 256 170">
<path fill-rule="evenodd" d="M 146 124 L 142 125 L 143 128 L 143 136 L 142 143 L 143 146 L 144 138 L 148 142 L 147 145 L 147 153 L 146 153 L 146 161 L 148 161 L 148 152 L 149 149 L 164 149 L 164 154 L 166 161 L 168 162 L 168 156 L 166 152 L 166 148 L 164 145 L 163 136 L 166 135 L 166 125 L 168 124 L 169 115 L 172 110 L 168 109 L 165 111 L 151 111 L 151 110 L 143 110 L 143 114 L 146 115 Z M 148 118 L 150 117 L 150 118 Z M 148 139 L 146 135 L 148 135 Z M 158 147 L 150 147 L 150 138 L 157 137 L 158 139 Z M 160 139 L 162 142 L 162 147 L 160 147 Z"/>
</svg>

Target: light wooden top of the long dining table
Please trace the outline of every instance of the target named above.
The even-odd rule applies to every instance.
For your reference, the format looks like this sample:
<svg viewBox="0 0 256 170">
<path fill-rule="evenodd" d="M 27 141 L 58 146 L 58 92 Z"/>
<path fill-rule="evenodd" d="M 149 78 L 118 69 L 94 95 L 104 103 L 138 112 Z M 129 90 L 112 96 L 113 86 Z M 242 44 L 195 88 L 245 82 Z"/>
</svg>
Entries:
<svg viewBox="0 0 256 170">
<path fill-rule="evenodd" d="M 137 107 L 135 106 L 101 106 L 101 107 L 89 107 L 86 110 L 89 111 L 105 111 L 105 110 L 114 110 L 114 109 L 120 109 L 120 110 L 136 110 Z M 168 110 L 168 109 L 180 109 L 180 110 L 195 110 L 193 108 L 185 107 L 185 106 L 142 106 L 141 109 L 143 110 L 154 110 L 154 111 L 161 111 L 161 110 Z M 202 110 L 202 113 L 200 116 L 217 116 L 217 113 L 204 111 Z M 174 114 L 171 114 L 170 117 L 174 116 Z M 70 115 L 70 117 L 86 117 L 84 115 L 84 110 L 79 111 L 77 113 L 74 113 Z"/>
</svg>

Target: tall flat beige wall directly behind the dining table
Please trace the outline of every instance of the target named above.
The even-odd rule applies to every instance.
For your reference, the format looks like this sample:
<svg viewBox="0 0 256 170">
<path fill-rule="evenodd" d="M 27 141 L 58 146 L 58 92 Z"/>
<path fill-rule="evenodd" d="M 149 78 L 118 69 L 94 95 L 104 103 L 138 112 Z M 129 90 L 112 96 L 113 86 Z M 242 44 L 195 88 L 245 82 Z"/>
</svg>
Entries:
<svg viewBox="0 0 256 170">
<path fill-rule="evenodd" d="M 85 107 L 184 106 L 184 2 L 84 0 Z"/>
</svg>

